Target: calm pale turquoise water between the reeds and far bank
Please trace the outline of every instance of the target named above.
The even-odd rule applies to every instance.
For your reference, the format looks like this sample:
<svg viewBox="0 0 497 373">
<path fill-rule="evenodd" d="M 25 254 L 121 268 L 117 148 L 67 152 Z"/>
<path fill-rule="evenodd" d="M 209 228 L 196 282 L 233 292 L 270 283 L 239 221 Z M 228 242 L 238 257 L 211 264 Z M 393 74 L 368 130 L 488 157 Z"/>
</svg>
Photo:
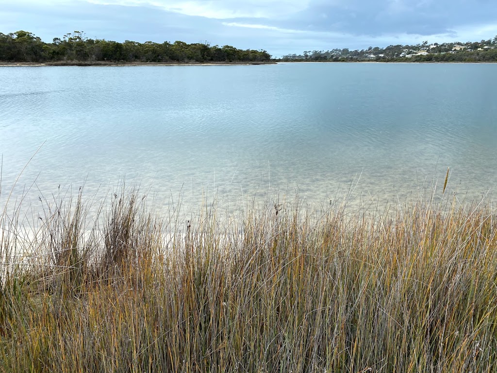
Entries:
<svg viewBox="0 0 497 373">
<path fill-rule="evenodd" d="M 125 176 L 198 201 L 279 188 L 323 203 L 416 197 L 426 179 L 497 187 L 497 65 L 1 67 L 2 199 Z M 440 181 L 441 179 L 441 181 Z"/>
</svg>

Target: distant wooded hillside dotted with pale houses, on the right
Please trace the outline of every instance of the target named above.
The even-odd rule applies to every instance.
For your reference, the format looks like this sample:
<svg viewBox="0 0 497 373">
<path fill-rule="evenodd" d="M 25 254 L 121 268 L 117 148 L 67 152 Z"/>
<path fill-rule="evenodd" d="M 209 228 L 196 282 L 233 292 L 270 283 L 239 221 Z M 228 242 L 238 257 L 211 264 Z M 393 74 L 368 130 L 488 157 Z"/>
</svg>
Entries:
<svg viewBox="0 0 497 373">
<path fill-rule="evenodd" d="M 301 55 L 283 56 L 282 61 L 496 62 L 497 36 L 480 42 L 429 44 L 426 40 L 422 44 L 389 45 L 386 48 L 304 51 Z"/>
</svg>

